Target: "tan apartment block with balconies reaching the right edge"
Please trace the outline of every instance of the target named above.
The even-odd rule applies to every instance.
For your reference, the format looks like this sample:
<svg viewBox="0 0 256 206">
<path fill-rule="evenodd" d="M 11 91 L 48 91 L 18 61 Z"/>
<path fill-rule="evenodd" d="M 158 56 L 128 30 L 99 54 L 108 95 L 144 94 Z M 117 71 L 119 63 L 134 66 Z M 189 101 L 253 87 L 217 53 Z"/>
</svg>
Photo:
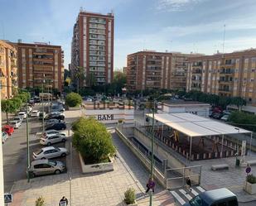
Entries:
<svg viewBox="0 0 256 206">
<path fill-rule="evenodd" d="M 256 50 L 190 58 L 186 91 L 192 89 L 256 103 Z"/>
</svg>

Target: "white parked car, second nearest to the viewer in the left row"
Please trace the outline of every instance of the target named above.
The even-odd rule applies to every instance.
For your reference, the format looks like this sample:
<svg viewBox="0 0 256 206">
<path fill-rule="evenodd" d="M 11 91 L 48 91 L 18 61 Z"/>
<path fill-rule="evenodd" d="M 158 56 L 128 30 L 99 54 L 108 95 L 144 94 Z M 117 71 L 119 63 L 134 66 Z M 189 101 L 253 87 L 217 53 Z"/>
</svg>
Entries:
<svg viewBox="0 0 256 206">
<path fill-rule="evenodd" d="M 64 147 L 46 146 L 33 152 L 34 160 L 51 159 L 59 156 L 67 156 L 69 152 Z"/>
</svg>

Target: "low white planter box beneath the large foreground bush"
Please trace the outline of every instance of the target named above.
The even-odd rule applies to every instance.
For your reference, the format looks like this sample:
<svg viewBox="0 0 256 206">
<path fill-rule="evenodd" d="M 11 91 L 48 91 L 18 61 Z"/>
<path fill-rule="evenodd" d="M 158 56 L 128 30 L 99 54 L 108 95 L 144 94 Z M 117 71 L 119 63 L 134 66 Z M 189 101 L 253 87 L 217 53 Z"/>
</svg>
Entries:
<svg viewBox="0 0 256 206">
<path fill-rule="evenodd" d="M 109 162 L 98 163 L 93 165 L 85 165 L 85 161 L 83 157 L 79 153 L 80 165 L 82 169 L 82 173 L 94 173 L 94 172 L 106 172 L 114 170 L 114 159 L 109 157 Z"/>
</svg>

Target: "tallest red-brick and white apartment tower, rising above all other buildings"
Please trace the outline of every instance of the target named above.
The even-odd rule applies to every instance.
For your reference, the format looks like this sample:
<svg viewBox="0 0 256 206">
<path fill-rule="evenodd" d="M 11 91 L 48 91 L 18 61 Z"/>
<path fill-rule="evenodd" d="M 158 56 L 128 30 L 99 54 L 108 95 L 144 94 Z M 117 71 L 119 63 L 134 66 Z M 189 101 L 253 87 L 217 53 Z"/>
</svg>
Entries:
<svg viewBox="0 0 256 206">
<path fill-rule="evenodd" d="M 96 84 L 109 84 L 114 68 L 114 14 L 80 11 L 75 22 L 71 46 L 71 73 L 84 69 L 82 86 L 94 75 Z"/>
</svg>

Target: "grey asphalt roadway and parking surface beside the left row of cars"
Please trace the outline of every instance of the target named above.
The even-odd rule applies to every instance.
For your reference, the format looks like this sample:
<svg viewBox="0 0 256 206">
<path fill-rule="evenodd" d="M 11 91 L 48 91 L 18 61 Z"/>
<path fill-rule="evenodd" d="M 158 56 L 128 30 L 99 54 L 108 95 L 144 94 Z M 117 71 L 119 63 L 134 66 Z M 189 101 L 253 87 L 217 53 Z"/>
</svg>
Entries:
<svg viewBox="0 0 256 206">
<path fill-rule="evenodd" d="M 37 104 L 33 109 L 41 110 L 41 104 Z M 40 137 L 36 136 L 36 132 L 41 132 L 41 121 L 38 117 L 29 117 L 29 144 L 30 144 L 30 160 L 32 160 L 33 151 L 38 151 L 42 147 L 39 141 Z M 65 142 L 56 143 L 52 146 L 65 147 Z M 7 138 L 2 146 L 3 150 L 3 172 L 4 172 L 4 190 L 10 192 L 14 182 L 27 178 L 27 129 L 26 120 L 22 122 L 22 126 Z M 66 158 L 60 157 L 65 163 Z"/>
</svg>

